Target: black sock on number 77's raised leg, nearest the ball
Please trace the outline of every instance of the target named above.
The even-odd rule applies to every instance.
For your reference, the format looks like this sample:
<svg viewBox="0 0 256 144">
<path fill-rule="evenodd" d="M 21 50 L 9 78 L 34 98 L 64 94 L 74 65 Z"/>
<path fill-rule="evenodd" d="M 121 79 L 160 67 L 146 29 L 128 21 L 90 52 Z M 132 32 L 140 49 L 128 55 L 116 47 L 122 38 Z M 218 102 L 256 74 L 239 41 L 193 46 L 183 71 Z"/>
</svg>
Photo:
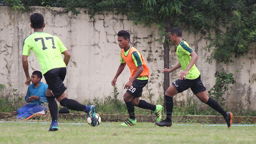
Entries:
<svg viewBox="0 0 256 144">
<path fill-rule="evenodd" d="M 79 102 L 77 102 L 76 100 L 73 100 L 73 99 L 64 98 L 60 101 L 60 105 L 63 106 L 63 107 L 66 107 L 70 110 L 87 112 L 85 110 L 85 108 L 86 108 L 85 105 L 82 105 L 81 103 L 79 103 Z"/>
</svg>

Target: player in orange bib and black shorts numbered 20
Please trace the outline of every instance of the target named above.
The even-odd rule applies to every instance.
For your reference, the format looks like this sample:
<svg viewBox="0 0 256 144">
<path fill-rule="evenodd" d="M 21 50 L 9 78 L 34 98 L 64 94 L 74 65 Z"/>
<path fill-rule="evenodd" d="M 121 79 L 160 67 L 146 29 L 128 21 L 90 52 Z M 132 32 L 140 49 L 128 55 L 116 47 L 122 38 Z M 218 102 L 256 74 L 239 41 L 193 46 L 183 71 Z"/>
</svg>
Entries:
<svg viewBox="0 0 256 144">
<path fill-rule="evenodd" d="M 149 109 L 155 112 L 157 122 L 161 120 L 161 105 L 152 105 L 145 100 L 139 100 L 142 95 L 142 89 L 147 84 L 149 77 L 149 69 L 146 65 L 142 54 L 134 47 L 129 45 L 130 33 L 121 30 L 117 34 L 118 45 L 121 48 L 120 51 L 120 65 L 117 69 L 114 79 L 111 81 L 112 86 L 115 86 L 117 77 L 122 73 L 126 64 L 128 65 L 131 77 L 130 80 L 125 84 L 124 89 L 128 89 L 124 94 L 124 101 L 129 112 L 129 119 L 122 123 L 121 126 L 130 127 L 137 123 L 134 115 L 134 106 L 143 109 Z"/>
</svg>

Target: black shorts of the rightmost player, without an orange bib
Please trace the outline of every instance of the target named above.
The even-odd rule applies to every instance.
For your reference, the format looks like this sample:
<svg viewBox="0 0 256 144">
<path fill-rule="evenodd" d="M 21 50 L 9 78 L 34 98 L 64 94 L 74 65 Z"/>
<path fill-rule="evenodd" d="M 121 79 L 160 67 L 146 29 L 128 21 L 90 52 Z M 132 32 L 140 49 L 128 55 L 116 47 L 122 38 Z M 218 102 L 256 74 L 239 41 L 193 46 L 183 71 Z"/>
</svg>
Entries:
<svg viewBox="0 0 256 144">
<path fill-rule="evenodd" d="M 175 82 L 173 82 L 172 85 L 176 87 L 179 93 L 187 90 L 188 88 L 190 88 L 194 94 L 197 94 L 199 92 L 203 92 L 206 90 L 206 88 L 203 86 L 203 83 L 201 81 L 201 75 L 199 75 L 199 77 L 194 80 L 178 79 Z"/>
</svg>

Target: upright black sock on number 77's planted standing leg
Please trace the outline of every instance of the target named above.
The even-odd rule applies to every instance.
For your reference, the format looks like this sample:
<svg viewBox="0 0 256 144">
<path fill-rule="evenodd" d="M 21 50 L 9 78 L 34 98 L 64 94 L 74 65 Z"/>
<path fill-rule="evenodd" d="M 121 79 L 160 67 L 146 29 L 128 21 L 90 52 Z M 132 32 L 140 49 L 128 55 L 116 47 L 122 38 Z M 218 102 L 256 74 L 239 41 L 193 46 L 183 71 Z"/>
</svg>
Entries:
<svg viewBox="0 0 256 144">
<path fill-rule="evenodd" d="M 49 111 L 52 117 L 52 121 L 57 121 L 58 118 L 58 105 L 55 101 L 55 97 L 53 96 L 46 96 L 48 101 Z"/>
</svg>

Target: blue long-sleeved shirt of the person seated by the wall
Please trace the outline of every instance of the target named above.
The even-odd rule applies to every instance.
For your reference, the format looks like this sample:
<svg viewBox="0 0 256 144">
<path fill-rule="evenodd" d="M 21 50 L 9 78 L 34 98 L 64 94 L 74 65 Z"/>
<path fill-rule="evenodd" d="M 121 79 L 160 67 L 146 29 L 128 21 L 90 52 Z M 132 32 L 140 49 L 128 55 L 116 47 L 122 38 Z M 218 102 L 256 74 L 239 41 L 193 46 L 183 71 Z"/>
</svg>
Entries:
<svg viewBox="0 0 256 144">
<path fill-rule="evenodd" d="M 40 85 L 35 88 L 34 84 L 30 84 L 28 86 L 28 91 L 27 95 L 25 97 L 25 101 L 29 103 L 28 97 L 29 96 L 38 96 L 40 99 L 39 100 L 31 100 L 31 104 L 37 104 L 37 105 L 42 105 L 42 103 L 47 103 L 47 99 L 45 96 L 46 90 L 48 88 L 47 84 L 44 84 L 43 82 L 40 82 Z"/>
</svg>

